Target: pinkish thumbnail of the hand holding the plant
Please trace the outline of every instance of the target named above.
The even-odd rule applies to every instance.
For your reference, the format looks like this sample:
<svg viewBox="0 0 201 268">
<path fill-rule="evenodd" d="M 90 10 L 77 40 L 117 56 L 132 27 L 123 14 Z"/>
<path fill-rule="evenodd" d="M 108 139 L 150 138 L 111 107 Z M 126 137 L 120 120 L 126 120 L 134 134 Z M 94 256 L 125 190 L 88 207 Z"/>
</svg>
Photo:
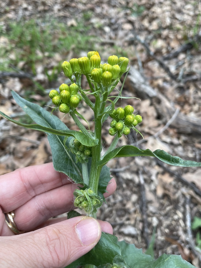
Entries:
<svg viewBox="0 0 201 268">
<path fill-rule="evenodd" d="M 75 227 L 81 243 L 85 246 L 95 243 L 101 232 L 100 225 L 94 218 L 84 218 Z"/>
</svg>

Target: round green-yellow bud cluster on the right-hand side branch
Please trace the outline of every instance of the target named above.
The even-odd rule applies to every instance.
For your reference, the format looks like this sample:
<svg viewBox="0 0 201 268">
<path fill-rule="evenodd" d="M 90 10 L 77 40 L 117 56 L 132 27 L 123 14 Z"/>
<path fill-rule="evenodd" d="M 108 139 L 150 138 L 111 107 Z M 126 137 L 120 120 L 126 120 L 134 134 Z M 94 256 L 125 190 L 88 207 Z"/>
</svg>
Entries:
<svg viewBox="0 0 201 268">
<path fill-rule="evenodd" d="M 118 107 L 116 110 L 110 114 L 113 120 L 110 123 L 111 128 L 109 129 L 109 134 L 114 136 L 118 134 L 121 137 L 122 134 L 128 135 L 131 129 L 142 122 L 142 117 L 137 114 L 133 114 L 133 107 L 131 105 L 126 105 L 124 108 Z"/>
</svg>

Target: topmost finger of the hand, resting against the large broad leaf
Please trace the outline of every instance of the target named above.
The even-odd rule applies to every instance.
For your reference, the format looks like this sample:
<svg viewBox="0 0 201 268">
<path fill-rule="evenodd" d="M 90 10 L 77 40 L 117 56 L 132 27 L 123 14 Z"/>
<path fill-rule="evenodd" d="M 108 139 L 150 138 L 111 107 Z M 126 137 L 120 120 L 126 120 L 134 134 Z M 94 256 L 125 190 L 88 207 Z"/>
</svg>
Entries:
<svg viewBox="0 0 201 268">
<path fill-rule="evenodd" d="M 16 169 L 0 176 L 0 206 L 5 212 L 16 209 L 33 196 L 71 183 L 52 163 Z"/>
</svg>

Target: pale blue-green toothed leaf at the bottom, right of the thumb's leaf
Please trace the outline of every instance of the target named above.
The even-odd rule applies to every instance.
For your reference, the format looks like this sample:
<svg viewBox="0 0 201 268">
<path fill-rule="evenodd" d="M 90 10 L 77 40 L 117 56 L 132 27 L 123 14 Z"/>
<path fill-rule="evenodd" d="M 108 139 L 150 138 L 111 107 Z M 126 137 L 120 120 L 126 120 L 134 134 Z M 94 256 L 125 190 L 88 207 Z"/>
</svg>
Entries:
<svg viewBox="0 0 201 268">
<path fill-rule="evenodd" d="M 131 268 L 195 268 L 192 264 L 185 261 L 179 255 L 161 255 L 154 260 L 150 255 L 142 252 L 142 249 L 136 248 L 133 244 L 125 241 L 118 242 L 121 248 L 121 256 Z"/>
</svg>

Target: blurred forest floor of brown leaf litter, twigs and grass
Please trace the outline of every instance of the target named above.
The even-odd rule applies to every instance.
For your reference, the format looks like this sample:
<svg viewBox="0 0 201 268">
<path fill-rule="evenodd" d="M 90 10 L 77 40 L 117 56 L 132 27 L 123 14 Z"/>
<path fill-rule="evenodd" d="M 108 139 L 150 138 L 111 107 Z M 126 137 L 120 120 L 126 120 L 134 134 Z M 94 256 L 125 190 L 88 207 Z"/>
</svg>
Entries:
<svg viewBox="0 0 201 268">
<path fill-rule="evenodd" d="M 0 16 L 0 110 L 5 114 L 30 123 L 11 90 L 51 105 L 49 91 L 68 83 L 61 73 L 64 60 L 91 50 L 98 50 L 102 61 L 125 56 L 131 70 L 122 94 L 141 101 L 122 99 L 118 106 L 133 105 L 143 117 L 144 140 L 133 132 L 120 143 L 201 161 L 200 1 L 5 0 Z M 92 126 L 88 107 L 79 112 Z M 54 114 L 76 129 L 69 116 Z M 104 147 L 112 141 L 109 124 L 102 133 Z M 50 161 L 43 133 L 0 117 L 0 174 Z M 109 167 L 118 188 L 99 218 L 113 225 L 114 235 L 149 247 L 155 257 L 181 254 L 200 267 L 200 238 L 189 219 L 201 217 L 201 169 L 145 157 L 113 159 Z"/>
</svg>

